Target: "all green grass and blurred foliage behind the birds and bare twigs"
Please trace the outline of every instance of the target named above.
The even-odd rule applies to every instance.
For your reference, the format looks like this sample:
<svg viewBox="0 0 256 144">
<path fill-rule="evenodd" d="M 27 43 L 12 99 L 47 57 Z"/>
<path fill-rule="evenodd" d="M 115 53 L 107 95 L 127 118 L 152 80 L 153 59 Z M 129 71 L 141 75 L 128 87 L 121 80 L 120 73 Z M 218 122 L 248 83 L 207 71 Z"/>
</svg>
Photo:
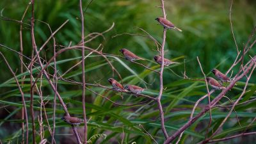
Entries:
<svg viewBox="0 0 256 144">
<path fill-rule="evenodd" d="M 83 9 L 85 10 L 89 2 L 83 1 L 83 3 Z M 27 4 L 28 1 L 10 2 L 8 0 L 2 0 L 0 1 L 1 17 L 20 20 Z M 216 67 L 226 72 L 236 58 L 236 45 L 232 38 L 228 18 L 230 1 L 172 0 L 165 1 L 165 5 L 168 19 L 183 30 L 182 33 L 168 31 L 166 37 L 165 57 L 181 63 L 180 65 L 173 65 L 164 70 L 164 88 L 166 90 L 164 90 L 162 103 L 166 118 L 166 129 L 171 134 L 188 120 L 195 101 L 207 92 L 204 82 L 182 79 L 182 72 L 184 72 L 183 61 L 186 59 L 186 74 L 189 77 L 202 77 L 196 56 L 199 56 L 205 73 L 209 73 L 212 68 Z M 103 52 L 117 55 L 120 54 L 118 52 L 120 48 L 126 47 L 136 52 L 139 56 L 147 58 L 148 61 L 143 61 L 142 63 L 148 67 L 159 69 L 159 65 L 156 65 L 153 61 L 153 57 L 158 54 L 154 42 L 143 36 L 115 36 L 120 33 L 140 33 L 145 35 L 143 31 L 138 29 L 143 28 L 150 35 L 154 36 L 156 40 L 161 42 L 163 28 L 154 19 L 162 14 L 161 9 L 156 6 L 159 6 L 159 1 L 93 1 L 84 13 L 85 35 L 105 31 L 113 22 L 115 22 L 115 27 L 104 35 L 105 39 L 99 37 L 86 44 L 86 46 L 97 48 L 99 44 L 102 44 L 104 45 Z M 253 26 L 256 24 L 255 6 L 255 1 L 234 1 L 232 22 L 239 49 L 243 48 Z M 28 13 L 24 22 L 29 23 L 30 17 L 31 13 Z M 56 34 L 56 43 L 67 46 L 70 42 L 72 42 L 72 45 L 80 42 L 81 21 L 78 1 L 36 1 L 35 18 L 47 22 L 53 30 L 59 28 L 68 19 L 68 24 Z M 0 44 L 19 51 L 19 28 L 20 25 L 17 22 L 0 20 Z M 29 26 L 24 26 L 23 33 L 24 54 L 31 56 L 32 47 Z M 36 21 L 35 34 L 37 45 L 44 44 L 45 40 L 51 36 L 47 25 L 39 21 Z M 42 58 L 49 59 L 53 53 L 52 41 L 45 48 L 42 52 Z M 60 46 L 57 47 L 57 49 L 61 48 Z M 28 75 L 28 72 L 20 74 L 19 55 L 3 47 L 0 48 L 0 51 L 6 56 L 13 70 L 17 70 L 16 74 L 19 76 L 19 79 L 21 79 L 21 76 Z M 249 53 L 255 55 L 255 48 Z M 58 56 L 58 72 L 62 74 L 68 68 L 72 67 L 72 65 L 81 60 L 80 56 L 81 51 L 77 50 L 67 51 Z M 246 60 L 248 59 L 250 58 L 246 58 Z M 144 88 L 147 86 L 147 90 L 144 93 L 157 96 L 159 90 L 159 77 L 157 74 L 123 59 L 109 58 L 109 60 L 111 60 L 113 65 L 118 69 L 118 72 L 122 75 L 124 83 L 137 84 Z M 26 60 L 25 62 L 28 63 Z M 10 71 L 2 60 L 0 61 L 0 67 L 0 140 L 3 142 L 12 140 L 16 143 L 16 141 L 21 140 L 20 123 L 22 120 L 20 120 L 20 108 L 22 107 L 22 103 L 20 93 L 12 74 L 10 74 Z M 237 68 L 235 68 L 235 71 Z M 49 72 L 51 72 L 51 69 L 49 69 Z M 86 83 L 100 83 L 109 86 L 109 77 L 112 77 L 112 72 L 103 58 L 97 55 L 91 55 L 90 58 L 86 59 Z M 80 82 L 81 67 L 76 67 L 72 72 L 66 74 L 65 78 Z M 115 78 L 118 79 L 117 76 Z M 141 79 L 148 84 L 143 83 Z M 22 90 L 24 90 L 25 96 L 28 97 L 27 105 L 29 106 L 29 79 L 25 79 L 25 82 Z M 246 93 L 246 97 L 243 100 L 255 98 L 255 82 L 255 74 L 253 74 L 249 84 L 251 92 Z M 42 80 L 42 83 L 45 101 L 52 100 L 54 92 L 52 92 L 45 79 Z M 62 81 L 59 81 L 58 86 L 58 91 L 67 103 L 70 113 L 81 117 L 83 113 L 81 86 Z M 227 96 L 236 99 L 237 95 L 241 93 L 243 86 L 244 82 L 239 82 L 234 90 L 228 92 Z M 134 104 L 145 100 L 132 95 L 124 95 L 124 99 L 121 99 L 120 93 L 108 92 L 97 87 L 89 86 L 89 88 L 122 104 Z M 212 97 L 215 95 L 216 93 Z M 40 106 L 39 100 L 40 97 L 35 95 L 35 108 L 36 106 Z M 227 99 L 221 101 L 224 104 L 229 104 Z M 113 106 L 108 100 L 102 99 L 102 97 L 89 91 L 86 91 L 86 102 L 86 113 L 88 118 L 90 118 L 88 138 L 94 134 L 107 135 L 105 140 L 98 140 L 97 143 L 121 143 L 123 133 L 125 143 L 132 143 L 133 141 L 136 141 L 136 143 L 152 143 L 152 139 L 143 133 L 145 131 L 141 129 L 139 124 L 143 125 L 159 143 L 163 142 L 164 137 L 160 129 L 159 111 L 156 109 L 157 104 L 151 102 L 132 107 Z M 202 106 L 205 104 L 207 104 L 206 99 L 202 102 Z M 57 143 L 65 143 L 65 141 L 71 143 L 71 139 L 74 138 L 68 135 L 72 135 L 70 126 L 61 121 L 61 116 L 64 112 L 59 104 L 57 105 L 57 109 L 56 141 Z M 52 124 L 51 101 L 47 104 L 46 110 L 49 116 L 49 122 Z M 199 111 L 200 108 L 197 110 Z M 255 102 L 248 103 L 244 106 L 237 106 L 236 111 L 241 122 L 241 127 L 237 124 L 236 115 L 232 114 L 229 122 L 223 127 L 223 131 L 214 138 L 222 138 L 228 136 L 230 133 L 236 134 L 236 132 L 244 131 L 244 125 L 250 124 L 256 116 Z M 212 110 L 213 121 L 211 129 L 214 129 L 225 118 L 225 114 L 226 109 Z M 38 112 L 36 115 L 38 115 Z M 208 119 L 209 115 L 205 115 L 200 119 L 200 122 L 198 121 L 189 128 L 184 133 L 181 143 L 196 143 L 199 140 L 203 140 Z M 46 125 L 46 122 L 44 124 Z M 38 128 L 37 120 L 36 127 Z M 253 129 L 255 130 L 255 124 L 252 125 L 250 131 L 253 131 Z M 45 138 L 49 138 L 49 140 L 51 138 L 47 128 L 45 128 Z M 40 137 L 38 137 L 39 140 Z M 255 137 L 248 136 L 246 138 L 230 140 L 228 143 L 253 143 L 253 141 L 255 141 Z"/>
</svg>

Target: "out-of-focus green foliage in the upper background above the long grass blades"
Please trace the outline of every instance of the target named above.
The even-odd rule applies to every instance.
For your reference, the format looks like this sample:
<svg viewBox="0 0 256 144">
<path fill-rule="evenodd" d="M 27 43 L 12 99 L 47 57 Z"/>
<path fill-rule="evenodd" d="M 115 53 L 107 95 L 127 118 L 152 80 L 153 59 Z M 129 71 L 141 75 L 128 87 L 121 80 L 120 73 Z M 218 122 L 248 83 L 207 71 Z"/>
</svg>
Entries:
<svg viewBox="0 0 256 144">
<path fill-rule="evenodd" d="M 84 9 L 86 7 L 84 1 Z M 26 8 L 26 1 L 1 1 L 3 17 L 20 20 Z M 141 33 L 136 28 L 143 28 L 154 36 L 159 42 L 162 38 L 163 28 L 154 20 L 162 15 L 161 9 L 155 6 L 159 1 L 93 1 L 85 13 L 86 34 L 101 32 L 108 29 L 112 22 L 115 28 L 106 35 L 103 40 L 104 52 L 119 54 L 118 49 L 127 47 L 138 55 L 152 60 L 157 54 L 154 42 L 141 36 L 123 35 L 115 38 L 111 36 L 120 33 Z M 254 1 L 236 1 L 232 11 L 232 23 L 239 50 L 243 49 L 253 26 L 255 26 Z M 228 66 L 236 58 L 236 45 L 230 30 L 229 17 L 230 1 L 166 1 L 166 13 L 169 20 L 176 26 L 183 29 L 178 31 L 168 31 L 166 44 L 166 58 L 177 58 L 184 56 L 188 61 L 188 71 L 193 69 L 189 76 L 201 76 L 198 63 L 195 58 L 199 56 L 204 70 L 209 72 L 219 63 L 221 70 L 227 70 Z M 69 42 L 77 44 L 80 40 L 81 24 L 79 20 L 78 5 L 76 1 L 37 1 L 35 17 L 38 20 L 49 23 L 52 30 L 57 29 L 65 20 L 69 19 L 68 24 L 56 35 L 56 42 L 60 45 L 68 45 Z M 29 23 L 30 13 L 26 15 L 25 22 Z M 19 24 L 16 22 L 1 20 L 0 42 L 1 44 L 12 47 L 19 51 Z M 28 26 L 24 26 L 24 54 L 31 55 L 31 43 Z M 49 28 L 42 22 L 36 22 L 37 45 L 44 44 L 45 40 L 51 35 Z M 100 42 L 102 39 L 99 40 Z M 97 47 L 99 41 L 95 40 L 88 46 Z M 3 48 L 2 48 L 3 49 Z M 19 57 L 12 52 L 3 49 L 6 56 L 12 56 L 11 64 L 18 68 L 15 61 Z M 52 51 L 51 43 L 46 51 Z M 61 54 L 61 58 L 70 58 L 70 55 L 79 56 L 79 52 L 72 51 Z M 47 55 L 47 57 L 49 57 Z M 90 60 L 89 60 L 90 61 Z M 179 60 L 182 62 L 183 60 Z M 180 74 L 183 67 L 177 68 Z M 124 72 L 122 72 L 124 73 Z M 9 74 L 6 70 L 1 71 L 1 75 Z M 1 81 L 4 80 L 1 79 Z"/>
</svg>

